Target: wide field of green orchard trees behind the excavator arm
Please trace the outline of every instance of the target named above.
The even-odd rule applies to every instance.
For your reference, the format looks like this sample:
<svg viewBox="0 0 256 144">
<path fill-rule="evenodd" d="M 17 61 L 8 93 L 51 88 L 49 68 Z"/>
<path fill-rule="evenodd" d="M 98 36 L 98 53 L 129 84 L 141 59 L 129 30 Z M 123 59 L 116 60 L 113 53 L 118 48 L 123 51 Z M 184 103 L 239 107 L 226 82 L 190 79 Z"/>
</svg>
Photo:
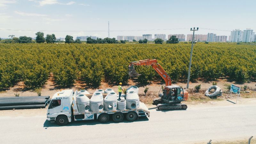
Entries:
<svg viewBox="0 0 256 144">
<path fill-rule="evenodd" d="M 15 37 L 13 37 L 14 39 Z M 17 82 L 27 87 L 42 87 L 49 74 L 56 85 L 65 87 L 81 79 L 98 86 L 102 80 L 111 83 L 128 81 L 130 61 L 157 59 L 173 81 L 186 80 L 189 44 L 0 44 L 0 90 Z M 2 40 L 5 41 L 5 40 Z M 2 42 L 1 41 L 1 42 Z M 101 40 L 101 42 L 104 42 Z M 256 46 L 236 43 L 198 43 L 193 50 L 191 80 L 212 81 L 227 77 L 236 82 L 256 77 Z M 136 66 L 141 74 L 134 80 L 164 82 L 152 67 Z"/>
</svg>

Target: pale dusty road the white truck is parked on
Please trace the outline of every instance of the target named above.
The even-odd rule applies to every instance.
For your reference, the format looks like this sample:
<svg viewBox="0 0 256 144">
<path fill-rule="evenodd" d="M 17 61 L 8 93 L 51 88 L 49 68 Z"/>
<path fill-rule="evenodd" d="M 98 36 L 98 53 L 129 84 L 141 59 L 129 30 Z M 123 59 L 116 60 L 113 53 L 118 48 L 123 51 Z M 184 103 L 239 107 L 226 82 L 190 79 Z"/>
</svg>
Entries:
<svg viewBox="0 0 256 144">
<path fill-rule="evenodd" d="M 0 111 L 1 112 L 1 111 Z M 45 112 L 46 113 L 46 112 Z M 46 115 L 0 117 L 0 143 L 194 143 L 256 136 L 256 105 L 150 110 L 150 118 L 58 126 Z"/>
</svg>

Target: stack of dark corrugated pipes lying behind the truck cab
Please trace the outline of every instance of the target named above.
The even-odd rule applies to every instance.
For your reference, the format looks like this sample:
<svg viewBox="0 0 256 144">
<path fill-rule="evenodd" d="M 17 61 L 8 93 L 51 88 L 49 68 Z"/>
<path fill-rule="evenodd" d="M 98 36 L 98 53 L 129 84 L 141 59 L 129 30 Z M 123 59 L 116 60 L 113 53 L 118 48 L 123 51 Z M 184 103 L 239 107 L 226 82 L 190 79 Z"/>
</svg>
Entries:
<svg viewBox="0 0 256 144">
<path fill-rule="evenodd" d="M 45 108 L 50 96 L 0 97 L 0 110 Z"/>
</svg>

